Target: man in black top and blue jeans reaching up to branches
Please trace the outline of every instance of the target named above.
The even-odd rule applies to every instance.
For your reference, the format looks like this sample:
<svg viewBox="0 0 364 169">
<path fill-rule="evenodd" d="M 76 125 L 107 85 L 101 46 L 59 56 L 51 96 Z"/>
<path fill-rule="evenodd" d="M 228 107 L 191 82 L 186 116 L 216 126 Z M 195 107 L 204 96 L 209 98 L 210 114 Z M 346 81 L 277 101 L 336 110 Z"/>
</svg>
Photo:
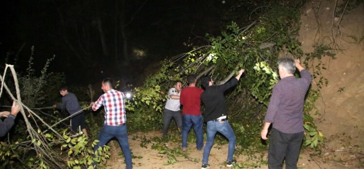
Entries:
<svg viewBox="0 0 364 169">
<path fill-rule="evenodd" d="M 224 92 L 237 84 L 244 69 L 239 70 L 239 74 L 225 84 L 213 85 L 214 81 L 209 76 L 201 78 L 202 85 L 206 88 L 201 94 L 202 103 L 205 105 L 203 119 L 207 122 L 207 140 L 203 150 L 202 167 L 207 169 L 210 167 L 208 159 L 214 138 L 217 132 L 220 132 L 229 140 L 228 156 L 226 159 L 226 167 L 232 167 L 237 161 L 233 159 L 235 150 L 235 134 L 227 120 L 227 111 Z"/>
</svg>

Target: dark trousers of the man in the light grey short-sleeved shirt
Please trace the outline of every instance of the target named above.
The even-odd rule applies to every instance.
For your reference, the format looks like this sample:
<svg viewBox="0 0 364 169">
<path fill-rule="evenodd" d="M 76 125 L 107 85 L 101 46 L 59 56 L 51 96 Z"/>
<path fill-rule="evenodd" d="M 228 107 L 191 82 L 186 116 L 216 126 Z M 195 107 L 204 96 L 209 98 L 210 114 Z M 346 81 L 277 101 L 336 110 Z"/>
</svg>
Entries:
<svg viewBox="0 0 364 169">
<path fill-rule="evenodd" d="M 168 134 L 169 124 L 171 123 L 172 118 L 176 121 L 177 127 L 182 130 L 182 115 L 181 111 L 172 111 L 168 109 L 164 109 L 163 114 L 163 136 Z"/>
</svg>

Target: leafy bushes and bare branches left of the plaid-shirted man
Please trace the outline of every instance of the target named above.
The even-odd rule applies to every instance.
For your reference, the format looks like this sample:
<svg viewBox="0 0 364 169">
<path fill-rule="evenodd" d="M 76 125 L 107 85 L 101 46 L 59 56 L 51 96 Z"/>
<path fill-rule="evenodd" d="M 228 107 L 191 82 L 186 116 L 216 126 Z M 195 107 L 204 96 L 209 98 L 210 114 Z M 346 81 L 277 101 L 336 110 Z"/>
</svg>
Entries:
<svg viewBox="0 0 364 169">
<path fill-rule="evenodd" d="M 87 117 L 86 123 L 90 126 L 89 135 L 91 137 L 86 137 L 69 131 L 69 119 L 62 122 L 62 119 L 69 116 L 67 112 L 58 111 L 52 107 L 36 108 L 42 105 L 52 105 L 58 100 L 58 88 L 64 83 L 64 75 L 47 72 L 53 57 L 46 61 L 40 75 L 36 76 L 36 69 L 32 67 L 33 51 L 34 47 L 25 74 L 17 73 L 17 78 L 14 75 L 13 77 L 5 76 L 10 74 L 5 71 L 1 77 L 1 82 L 4 82 L 1 89 L 4 90 L 3 92 L 6 89 L 10 98 L 18 101 L 23 110 L 18 114 L 17 127 L 14 127 L 7 137 L 0 138 L 0 168 L 93 169 L 91 164 L 94 161 L 100 163 L 99 168 L 103 168 L 103 164 L 109 158 L 109 147 L 100 147 L 96 153 L 93 152 L 93 147 L 98 142 L 96 136 L 102 126 L 100 122 L 103 122 L 99 120 L 103 118 L 103 111 L 93 113 L 88 109 L 89 102 L 81 102 Z M 5 70 L 8 67 L 13 66 L 6 65 Z M 15 72 L 13 70 L 14 68 L 12 73 Z M 17 91 L 17 94 L 21 91 L 19 95 L 21 100 L 18 96 L 14 98 L 13 92 L 9 91 Z M 86 91 L 84 92 L 86 93 Z"/>
</svg>

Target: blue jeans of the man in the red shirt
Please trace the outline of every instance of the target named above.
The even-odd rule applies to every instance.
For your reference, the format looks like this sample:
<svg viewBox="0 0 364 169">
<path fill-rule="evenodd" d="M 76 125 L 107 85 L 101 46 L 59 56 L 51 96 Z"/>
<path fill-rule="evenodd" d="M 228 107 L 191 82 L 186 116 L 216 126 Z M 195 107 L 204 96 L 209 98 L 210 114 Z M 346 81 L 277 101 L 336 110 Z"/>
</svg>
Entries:
<svg viewBox="0 0 364 169">
<path fill-rule="evenodd" d="M 202 115 L 192 116 L 192 115 L 183 115 L 182 121 L 182 147 L 187 147 L 187 135 L 193 125 L 193 129 L 196 133 L 196 147 L 197 150 L 203 148 L 203 120 Z"/>
</svg>

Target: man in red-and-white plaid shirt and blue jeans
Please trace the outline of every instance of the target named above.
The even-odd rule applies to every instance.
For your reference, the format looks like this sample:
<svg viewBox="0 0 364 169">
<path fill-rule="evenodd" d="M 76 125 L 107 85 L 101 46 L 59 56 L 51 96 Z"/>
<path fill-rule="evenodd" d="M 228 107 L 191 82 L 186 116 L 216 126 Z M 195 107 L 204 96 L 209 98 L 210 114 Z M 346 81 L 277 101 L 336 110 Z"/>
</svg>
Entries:
<svg viewBox="0 0 364 169">
<path fill-rule="evenodd" d="M 96 102 L 91 102 L 92 110 L 96 111 L 102 105 L 105 108 L 105 125 L 99 135 L 99 141 L 94 148 L 94 152 L 101 146 L 103 147 L 111 138 L 119 140 L 120 147 L 125 155 L 127 169 L 132 169 L 131 153 L 127 141 L 127 117 L 125 115 L 124 94 L 112 88 L 113 81 L 110 78 L 102 81 L 101 89 L 104 94 Z M 94 162 L 93 166 L 96 165 Z"/>
</svg>

